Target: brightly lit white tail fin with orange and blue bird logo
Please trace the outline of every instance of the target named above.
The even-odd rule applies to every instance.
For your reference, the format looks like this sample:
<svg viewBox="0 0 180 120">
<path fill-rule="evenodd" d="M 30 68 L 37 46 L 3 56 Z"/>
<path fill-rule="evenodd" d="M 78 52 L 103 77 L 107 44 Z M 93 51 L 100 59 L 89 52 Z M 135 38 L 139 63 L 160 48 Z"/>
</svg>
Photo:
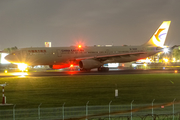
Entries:
<svg viewBox="0 0 180 120">
<path fill-rule="evenodd" d="M 159 46 L 162 47 L 166 40 L 166 36 L 168 33 L 168 29 L 170 26 L 171 21 L 164 21 L 161 26 L 157 29 L 151 39 L 143 44 L 145 46 Z"/>
</svg>

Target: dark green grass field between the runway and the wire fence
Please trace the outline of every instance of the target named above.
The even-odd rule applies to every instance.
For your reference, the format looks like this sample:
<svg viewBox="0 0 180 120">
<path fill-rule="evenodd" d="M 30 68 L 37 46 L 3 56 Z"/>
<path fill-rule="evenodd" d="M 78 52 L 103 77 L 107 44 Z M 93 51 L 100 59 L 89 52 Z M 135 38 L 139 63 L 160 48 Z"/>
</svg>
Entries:
<svg viewBox="0 0 180 120">
<path fill-rule="evenodd" d="M 180 100 L 180 74 L 0 78 L 7 103 L 19 108 L 166 103 Z M 115 98 L 115 88 L 119 97 Z M 12 107 L 12 106 L 11 106 Z M 2 107 L 0 107 L 2 108 Z"/>
</svg>

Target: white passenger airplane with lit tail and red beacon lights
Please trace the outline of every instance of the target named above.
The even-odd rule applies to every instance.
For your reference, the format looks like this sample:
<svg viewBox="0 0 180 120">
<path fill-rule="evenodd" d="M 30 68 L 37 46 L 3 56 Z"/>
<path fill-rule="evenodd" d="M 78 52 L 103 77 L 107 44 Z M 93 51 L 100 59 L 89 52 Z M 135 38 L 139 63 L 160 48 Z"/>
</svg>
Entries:
<svg viewBox="0 0 180 120">
<path fill-rule="evenodd" d="M 30 47 L 12 52 L 5 59 L 32 66 L 49 65 L 53 69 L 78 65 L 81 71 L 109 71 L 104 64 L 136 61 L 162 52 L 170 23 L 163 21 L 150 40 L 140 46 Z"/>
</svg>

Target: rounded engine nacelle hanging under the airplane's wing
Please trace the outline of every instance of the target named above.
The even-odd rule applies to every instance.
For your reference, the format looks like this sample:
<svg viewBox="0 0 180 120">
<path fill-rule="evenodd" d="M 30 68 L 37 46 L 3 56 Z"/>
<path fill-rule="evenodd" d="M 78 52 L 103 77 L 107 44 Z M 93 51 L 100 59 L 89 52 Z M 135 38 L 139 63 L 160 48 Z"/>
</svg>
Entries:
<svg viewBox="0 0 180 120">
<path fill-rule="evenodd" d="M 93 59 L 87 59 L 87 60 L 81 60 L 79 62 L 79 67 L 81 69 L 93 69 L 93 68 L 98 68 L 101 67 L 103 64 L 97 60 L 93 60 Z"/>
</svg>

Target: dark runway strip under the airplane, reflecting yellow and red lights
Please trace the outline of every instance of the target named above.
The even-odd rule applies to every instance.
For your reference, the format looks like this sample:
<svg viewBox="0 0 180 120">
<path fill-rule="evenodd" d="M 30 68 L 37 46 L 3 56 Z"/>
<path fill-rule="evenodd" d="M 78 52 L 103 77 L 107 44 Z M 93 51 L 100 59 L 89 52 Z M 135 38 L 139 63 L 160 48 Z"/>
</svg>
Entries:
<svg viewBox="0 0 180 120">
<path fill-rule="evenodd" d="M 180 72 L 180 70 L 179 70 Z M 123 74 L 167 74 L 167 73 L 179 73 L 178 70 L 113 70 L 109 72 L 80 72 L 80 71 L 68 71 L 68 72 L 54 72 L 54 71 L 41 71 L 41 72 L 10 72 L 0 73 L 0 77 L 41 77 L 41 76 L 80 76 L 80 75 L 123 75 Z"/>
</svg>

